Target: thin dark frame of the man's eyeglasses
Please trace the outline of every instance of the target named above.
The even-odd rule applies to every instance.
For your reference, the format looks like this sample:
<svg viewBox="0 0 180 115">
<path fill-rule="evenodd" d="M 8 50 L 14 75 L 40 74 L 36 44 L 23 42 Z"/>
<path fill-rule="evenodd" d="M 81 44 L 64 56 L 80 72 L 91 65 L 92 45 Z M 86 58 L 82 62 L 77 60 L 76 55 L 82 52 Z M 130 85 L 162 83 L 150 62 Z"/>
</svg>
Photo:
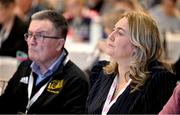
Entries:
<svg viewBox="0 0 180 115">
<path fill-rule="evenodd" d="M 41 32 L 37 32 L 37 33 L 41 33 Z M 42 40 L 44 40 L 44 38 L 52 38 L 52 39 L 63 39 L 62 37 L 58 37 L 58 36 L 47 36 L 47 35 L 42 35 L 42 34 L 33 34 L 32 33 L 32 35 L 31 36 L 29 36 L 31 33 L 25 33 L 24 34 L 24 39 L 25 39 L 25 41 L 28 41 L 28 38 L 32 38 L 33 37 L 33 39 L 35 40 L 35 41 L 38 41 L 37 40 L 37 36 L 39 36 L 39 37 L 42 37 Z M 38 38 L 39 39 L 39 38 Z M 39 40 L 41 40 L 41 39 L 39 39 Z"/>
</svg>

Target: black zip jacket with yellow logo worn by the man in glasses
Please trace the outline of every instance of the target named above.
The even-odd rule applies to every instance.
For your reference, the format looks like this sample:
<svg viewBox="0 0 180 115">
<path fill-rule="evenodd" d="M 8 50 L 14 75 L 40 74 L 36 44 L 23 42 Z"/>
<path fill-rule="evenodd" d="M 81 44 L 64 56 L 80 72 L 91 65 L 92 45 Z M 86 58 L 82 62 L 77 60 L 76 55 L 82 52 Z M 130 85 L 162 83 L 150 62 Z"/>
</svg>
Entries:
<svg viewBox="0 0 180 115">
<path fill-rule="evenodd" d="M 4 94 L 0 97 L 0 113 L 25 112 L 28 83 L 22 82 L 23 77 L 30 75 L 31 61 L 23 62 L 10 79 Z M 51 75 L 51 80 L 42 95 L 30 107 L 29 114 L 72 114 L 84 113 L 88 94 L 88 82 L 85 74 L 70 60 L 60 66 Z M 56 81 L 63 81 L 57 88 Z M 43 82 L 40 85 L 43 85 Z M 53 85 L 52 85 L 53 84 Z"/>
</svg>

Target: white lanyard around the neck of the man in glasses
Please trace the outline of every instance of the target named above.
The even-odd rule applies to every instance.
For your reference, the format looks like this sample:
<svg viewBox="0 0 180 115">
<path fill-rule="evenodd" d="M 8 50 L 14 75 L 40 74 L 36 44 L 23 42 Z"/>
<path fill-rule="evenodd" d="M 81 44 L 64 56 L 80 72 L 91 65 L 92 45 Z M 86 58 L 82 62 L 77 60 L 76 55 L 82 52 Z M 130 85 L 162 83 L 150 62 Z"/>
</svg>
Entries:
<svg viewBox="0 0 180 115">
<path fill-rule="evenodd" d="M 31 105 L 38 99 L 38 97 L 42 94 L 42 92 L 44 91 L 45 87 L 47 86 L 48 82 L 43 85 L 39 91 L 31 98 L 31 94 L 32 94 L 32 88 L 33 88 L 33 82 L 34 82 L 34 78 L 32 76 L 32 72 L 31 75 L 29 77 L 29 83 L 28 83 L 28 104 L 26 106 L 26 112 L 28 112 L 29 108 L 31 107 Z"/>
</svg>

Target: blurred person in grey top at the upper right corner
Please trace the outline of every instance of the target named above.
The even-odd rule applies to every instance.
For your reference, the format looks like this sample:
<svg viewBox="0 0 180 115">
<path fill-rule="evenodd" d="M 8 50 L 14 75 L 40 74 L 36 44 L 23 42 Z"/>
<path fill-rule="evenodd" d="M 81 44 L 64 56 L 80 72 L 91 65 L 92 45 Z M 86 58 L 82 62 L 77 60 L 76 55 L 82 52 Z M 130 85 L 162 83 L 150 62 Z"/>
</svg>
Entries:
<svg viewBox="0 0 180 115">
<path fill-rule="evenodd" d="M 180 15 L 177 13 L 177 0 L 161 0 L 148 12 L 157 22 L 160 32 L 180 32 Z"/>
</svg>

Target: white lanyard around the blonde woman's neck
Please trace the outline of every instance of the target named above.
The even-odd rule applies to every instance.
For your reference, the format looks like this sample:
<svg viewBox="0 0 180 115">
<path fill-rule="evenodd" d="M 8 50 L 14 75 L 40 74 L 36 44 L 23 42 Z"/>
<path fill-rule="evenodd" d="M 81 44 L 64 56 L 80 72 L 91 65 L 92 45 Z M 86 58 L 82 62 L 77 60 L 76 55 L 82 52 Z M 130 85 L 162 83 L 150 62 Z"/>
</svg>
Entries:
<svg viewBox="0 0 180 115">
<path fill-rule="evenodd" d="M 118 77 L 116 75 L 116 77 L 115 77 L 115 79 L 114 79 L 114 81 L 113 81 L 113 83 L 111 85 L 111 88 L 109 90 L 108 96 L 106 98 L 106 101 L 105 101 L 105 104 L 104 104 L 104 107 L 103 107 L 103 110 L 102 110 L 102 115 L 106 115 L 108 113 L 110 107 L 116 102 L 117 98 L 124 92 L 124 90 L 130 84 L 130 82 L 131 82 L 131 79 L 126 83 L 126 85 L 123 87 L 123 89 L 118 93 L 116 98 L 114 100 L 112 100 L 114 91 L 115 91 L 116 86 L 118 84 Z"/>
</svg>

